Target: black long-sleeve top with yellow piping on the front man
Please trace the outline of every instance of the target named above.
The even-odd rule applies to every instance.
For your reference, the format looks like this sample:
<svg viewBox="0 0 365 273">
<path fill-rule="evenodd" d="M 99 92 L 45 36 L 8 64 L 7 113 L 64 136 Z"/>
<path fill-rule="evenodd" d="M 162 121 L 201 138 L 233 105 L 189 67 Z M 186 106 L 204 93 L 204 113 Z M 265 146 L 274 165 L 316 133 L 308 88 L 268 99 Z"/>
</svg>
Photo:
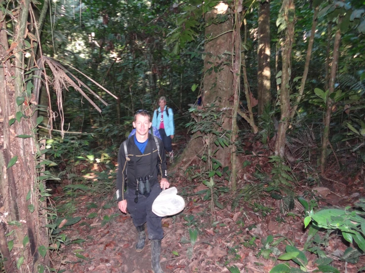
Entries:
<svg viewBox="0 0 365 273">
<path fill-rule="evenodd" d="M 127 178 L 127 186 L 131 189 L 137 188 L 137 178 L 150 176 L 150 183 L 153 185 L 158 182 L 158 174 L 162 178 L 167 178 L 166 156 L 162 140 L 157 138 L 160 151 L 157 150 L 155 138 L 148 134 L 148 143 L 142 154 L 134 142 L 134 137 L 128 138 L 127 144 L 127 161 L 125 159 L 123 143 L 119 147 L 118 153 L 118 172 L 117 172 L 117 198 L 118 202 L 124 200 L 124 183 Z"/>
</svg>

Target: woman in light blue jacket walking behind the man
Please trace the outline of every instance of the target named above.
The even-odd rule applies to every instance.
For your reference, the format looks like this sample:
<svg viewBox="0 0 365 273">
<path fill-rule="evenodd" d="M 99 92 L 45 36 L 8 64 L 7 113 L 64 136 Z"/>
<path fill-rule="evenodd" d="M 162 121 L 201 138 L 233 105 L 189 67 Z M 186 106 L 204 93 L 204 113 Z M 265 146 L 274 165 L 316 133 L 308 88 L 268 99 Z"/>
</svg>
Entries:
<svg viewBox="0 0 365 273">
<path fill-rule="evenodd" d="M 161 97 L 159 100 L 160 107 L 153 113 L 152 126 L 159 129 L 165 150 L 169 153 L 170 160 L 174 156 L 172 151 L 171 139 L 174 138 L 174 115 L 172 109 L 166 106 L 166 98 Z"/>
</svg>

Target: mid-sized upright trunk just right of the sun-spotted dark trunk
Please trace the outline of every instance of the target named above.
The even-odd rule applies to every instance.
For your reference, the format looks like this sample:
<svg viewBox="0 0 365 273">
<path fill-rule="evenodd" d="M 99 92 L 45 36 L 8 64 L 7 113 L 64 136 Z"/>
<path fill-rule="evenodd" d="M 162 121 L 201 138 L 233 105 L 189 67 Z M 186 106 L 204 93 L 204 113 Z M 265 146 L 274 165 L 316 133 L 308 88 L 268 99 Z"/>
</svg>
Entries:
<svg viewBox="0 0 365 273">
<path fill-rule="evenodd" d="M 286 21 L 286 33 L 284 49 L 282 51 L 282 82 L 280 86 L 280 110 L 281 119 L 279 123 L 278 135 L 275 142 L 275 155 L 284 158 L 286 130 L 290 117 L 290 99 L 289 99 L 289 80 L 291 65 L 291 49 L 294 39 L 294 0 L 284 0 L 284 19 Z"/>
</svg>

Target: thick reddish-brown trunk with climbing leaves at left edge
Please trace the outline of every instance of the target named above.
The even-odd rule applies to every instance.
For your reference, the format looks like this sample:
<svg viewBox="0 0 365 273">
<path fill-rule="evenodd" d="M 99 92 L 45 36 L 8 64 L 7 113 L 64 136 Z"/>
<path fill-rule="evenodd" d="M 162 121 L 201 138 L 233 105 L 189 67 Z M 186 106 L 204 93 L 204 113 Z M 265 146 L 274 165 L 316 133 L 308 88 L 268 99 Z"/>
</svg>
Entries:
<svg viewBox="0 0 365 273">
<path fill-rule="evenodd" d="M 3 149 L 0 155 L 1 170 L 1 195 L 4 204 L 4 209 L 9 213 L 7 221 L 18 222 L 19 227 L 7 226 L 7 232 L 14 230 L 15 233 L 8 237 L 4 236 L 5 229 L 0 231 L 0 250 L 4 257 L 8 258 L 11 266 L 10 272 L 15 272 L 12 267 L 18 259 L 24 259 L 20 264 L 21 272 L 36 272 L 38 264 L 47 265 L 47 258 L 40 260 L 38 247 L 43 245 L 48 247 L 47 229 L 44 228 L 46 214 L 39 204 L 40 191 L 39 185 L 41 182 L 37 179 L 37 158 L 40 157 L 40 147 L 36 141 L 37 137 L 34 133 L 34 128 L 37 124 L 32 122 L 30 118 L 32 111 L 28 105 L 31 97 L 35 96 L 31 88 L 26 88 L 30 81 L 24 82 L 25 75 L 29 68 L 24 64 L 24 40 L 27 31 L 27 22 L 29 15 L 30 0 L 20 1 L 18 5 L 18 17 L 14 20 L 15 33 L 9 40 L 16 47 L 13 50 L 7 51 L 9 40 L 6 33 L 6 24 L 8 18 L 4 18 L 0 12 L 2 28 L 0 30 L 0 55 L 15 58 L 10 61 L 2 62 L 0 69 L 0 105 L 2 114 L 2 126 L 0 135 L 4 136 Z M 28 49 L 27 49 L 28 50 Z M 6 52 L 4 54 L 4 52 Z M 7 59 L 9 60 L 9 59 Z M 29 75 L 28 75 L 29 76 Z M 27 77 L 28 77 L 27 76 Z M 33 94 L 32 94 L 33 93 Z M 24 95 L 26 94 L 26 95 Z M 20 103 L 20 100 L 25 96 L 25 102 Z M 19 104 L 19 105 L 18 105 Z M 12 123 L 9 124 L 10 118 Z M 17 160 L 11 161 L 17 157 Z M 6 168 L 12 162 L 13 164 Z M 43 203 L 44 204 L 44 203 Z M 5 246 L 7 240 L 14 240 L 17 244 L 25 244 L 21 251 L 11 251 L 6 253 Z M 23 240 L 24 239 L 24 240 Z M 28 241 L 28 242 L 27 242 Z M 9 257 L 7 257 L 9 256 Z M 21 260 L 20 260 L 21 261 Z"/>
</svg>

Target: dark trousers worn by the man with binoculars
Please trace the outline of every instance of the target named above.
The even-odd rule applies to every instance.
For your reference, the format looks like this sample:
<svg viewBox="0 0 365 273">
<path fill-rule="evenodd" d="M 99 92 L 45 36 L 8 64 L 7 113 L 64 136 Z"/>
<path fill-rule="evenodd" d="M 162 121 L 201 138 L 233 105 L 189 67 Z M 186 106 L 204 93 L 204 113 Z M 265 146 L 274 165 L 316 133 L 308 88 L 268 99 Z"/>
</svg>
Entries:
<svg viewBox="0 0 365 273">
<path fill-rule="evenodd" d="M 135 190 L 127 188 L 126 191 L 127 209 L 132 217 L 133 224 L 139 227 L 147 222 L 148 238 L 150 240 L 161 240 L 163 238 L 162 217 L 152 212 L 152 204 L 161 191 L 160 183 L 155 183 L 151 187 L 149 197 L 138 195 L 138 203 L 134 202 L 136 198 Z"/>
</svg>

